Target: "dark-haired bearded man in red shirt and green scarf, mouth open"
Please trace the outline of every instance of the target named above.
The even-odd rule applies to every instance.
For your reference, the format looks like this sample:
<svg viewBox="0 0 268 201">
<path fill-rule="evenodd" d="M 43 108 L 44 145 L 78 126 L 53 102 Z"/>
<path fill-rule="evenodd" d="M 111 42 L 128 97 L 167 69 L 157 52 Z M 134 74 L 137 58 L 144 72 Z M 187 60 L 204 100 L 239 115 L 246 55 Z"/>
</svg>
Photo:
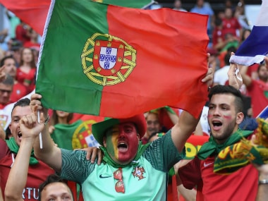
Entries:
<svg viewBox="0 0 268 201">
<path fill-rule="evenodd" d="M 243 100 L 239 90 L 229 85 L 212 87 L 209 91 L 209 142 L 202 145 L 195 159 L 178 169 L 185 188 L 192 189 L 197 185 L 197 201 L 256 199 L 258 176 L 252 164 L 231 174 L 214 173 L 214 163 L 217 166 L 224 164 L 215 162 L 219 152 L 253 133 L 238 128 L 243 117 Z M 233 163 L 236 163 L 235 160 Z"/>
</svg>

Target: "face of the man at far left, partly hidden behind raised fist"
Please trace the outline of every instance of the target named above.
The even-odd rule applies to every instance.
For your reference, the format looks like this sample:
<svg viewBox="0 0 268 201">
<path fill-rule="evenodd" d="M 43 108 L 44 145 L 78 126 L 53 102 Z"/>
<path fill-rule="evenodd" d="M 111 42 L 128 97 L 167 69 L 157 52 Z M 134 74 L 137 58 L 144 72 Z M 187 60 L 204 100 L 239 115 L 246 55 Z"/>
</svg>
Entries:
<svg viewBox="0 0 268 201">
<path fill-rule="evenodd" d="M 30 106 L 16 106 L 12 111 L 11 124 L 9 125 L 9 129 L 11 130 L 11 134 L 14 137 L 18 146 L 20 146 L 22 137 L 20 133 L 20 118 L 31 113 L 32 110 Z"/>
</svg>

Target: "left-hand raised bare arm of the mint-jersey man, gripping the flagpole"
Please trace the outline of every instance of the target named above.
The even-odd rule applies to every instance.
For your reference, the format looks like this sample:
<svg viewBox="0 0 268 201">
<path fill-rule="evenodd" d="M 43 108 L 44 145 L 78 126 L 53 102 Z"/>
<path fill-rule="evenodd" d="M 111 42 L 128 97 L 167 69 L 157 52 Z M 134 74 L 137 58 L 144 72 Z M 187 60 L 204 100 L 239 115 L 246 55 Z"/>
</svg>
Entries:
<svg viewBox="0 0 268 201">
<path fill-rule="evenodd" d="M 31 96 L 30 106 L 32 111 L 37 114 L 37 110 L 42 111 L 44 113 L 44 118 L 48 118 L 47 109 L 45 109 L 40 99 L 41 95 L 34 94 Z M 39 133 L 35 133 L 35 135 L 39 135 Z M 35 140 L 34 144 L 35 156 L 41 159 L 44 163 L 51 166 L 55 171 L 61 171 L 61 150 L 59 147 L 54 146 L 54 142 L 49 134 L 49 125 L 48 123 L 44 126 L 42 130 L 42 149 L 40 148 L 39 138 Z"/>
</svg>

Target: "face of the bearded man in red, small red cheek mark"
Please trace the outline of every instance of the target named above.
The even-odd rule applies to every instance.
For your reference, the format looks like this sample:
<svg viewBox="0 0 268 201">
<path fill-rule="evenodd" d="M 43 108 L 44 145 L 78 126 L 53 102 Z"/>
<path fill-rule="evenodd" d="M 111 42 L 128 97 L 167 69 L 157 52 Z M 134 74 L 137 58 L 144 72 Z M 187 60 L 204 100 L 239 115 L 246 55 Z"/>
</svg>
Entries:
<svg viewBox="0 0 268 201">
<path fill-rule="evenodd" d="M 236 111 L 235 97 L 231 94 L 213 95 L 207 117 L 212 136 L 219 144 L 224 143 L 243 121 L 243 113 Z"/>
</svg>

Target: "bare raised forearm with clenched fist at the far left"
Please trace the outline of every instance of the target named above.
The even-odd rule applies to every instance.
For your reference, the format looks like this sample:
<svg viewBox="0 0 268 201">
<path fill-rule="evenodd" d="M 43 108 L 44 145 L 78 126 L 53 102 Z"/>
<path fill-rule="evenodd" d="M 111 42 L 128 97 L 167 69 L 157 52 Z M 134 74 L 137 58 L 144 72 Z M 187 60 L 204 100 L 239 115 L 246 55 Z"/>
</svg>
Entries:
<svg viewBox="0 0 268 201">
<path fill-rule="evenodd" d="M 40 124 L 44 123 L 44 115 L 40 117 Z M 22 133 L 22 140 L 20 143 L 20 149 L 16 160 L 11 167 L 11 171 L 8 175 L 8 181 L 6 182 L 5 200 L 23 200 L 23 189 L 25 188 L 28 178 L 28 168 L 30 162 L 30 155 L 32 152 L 32 146 L 35 142 L 35 137 L 32 133 L 35 130 L 41 130 L 42 126 L 37 123 L 35 114 L 23 116 L 20 119 L 20 131 Z"/>
</svg>

